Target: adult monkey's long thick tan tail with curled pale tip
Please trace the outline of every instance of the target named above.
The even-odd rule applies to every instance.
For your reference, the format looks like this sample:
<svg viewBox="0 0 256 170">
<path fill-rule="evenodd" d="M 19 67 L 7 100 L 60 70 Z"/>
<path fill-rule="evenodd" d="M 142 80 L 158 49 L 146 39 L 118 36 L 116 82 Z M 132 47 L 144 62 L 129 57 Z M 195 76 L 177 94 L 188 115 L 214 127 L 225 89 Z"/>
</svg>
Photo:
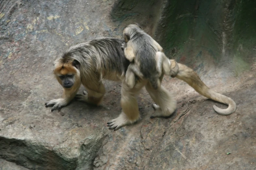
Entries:
<svg viewBox="0 0 256 170">
<path fill-rule="evenodd" d="M 198 77 L 196 72 L 192 70 L 191 68 L 187 67 L 184 64 L 177 63 L 179 66 L 179 72 L 177 74 L 177 78 L 185 81 L 188 83 L 191 87 L 195 89 L 196 92 L 199 94 L 210 98 L 212 100 L 215 100 L 220 103 L 224 103 L 228 105 L 229 107 L 226 109 L 221 109 L 215 105 L 213 105 L 213 109 L 220 115 L 229 115 L 236 110 L 236 104 L 235 102 L 225 95 L 219 94 L 217 92 L 214 92 L 210 88 L 208 88 L 202 80 Z"/>
</svg>

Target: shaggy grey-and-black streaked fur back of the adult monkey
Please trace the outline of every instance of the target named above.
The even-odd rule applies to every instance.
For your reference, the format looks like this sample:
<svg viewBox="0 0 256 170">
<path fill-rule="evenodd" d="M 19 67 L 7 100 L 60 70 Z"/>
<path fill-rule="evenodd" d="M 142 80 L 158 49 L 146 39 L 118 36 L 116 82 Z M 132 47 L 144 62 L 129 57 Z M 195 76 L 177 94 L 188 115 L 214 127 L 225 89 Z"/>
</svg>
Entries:
<svg viewBox="0 0 256 170">
<path fill-rule="evenodd" d="M 81 64 L 80 72 L 87 76 L 108 78 L 112 73 L 125 74 L 129 61 L 121 48 L 123 39 L 103 37 L 71 46 L 61 60 L 75 59 Z"/>
</svg>

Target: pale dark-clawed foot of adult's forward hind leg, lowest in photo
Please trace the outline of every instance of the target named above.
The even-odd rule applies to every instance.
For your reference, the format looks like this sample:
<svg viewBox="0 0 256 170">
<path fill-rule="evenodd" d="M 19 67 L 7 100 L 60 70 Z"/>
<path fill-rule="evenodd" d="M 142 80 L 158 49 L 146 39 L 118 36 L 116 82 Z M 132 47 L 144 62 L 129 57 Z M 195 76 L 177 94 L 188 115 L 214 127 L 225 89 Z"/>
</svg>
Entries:
<svg viewBox="0 0 256 170">
<path fill-rule="evenodd" d="M 116 119 L 112 119 L 110 122 L 108 122 L 108 126 L 109 129 L 114 129 L 114 131 L 116 131 L 117 129 L 119 129 L 122 126 L 128 125 L 128 124 L 132 124 L 137 120 L 129 120 L 128 117 L 126 116 L 126 114 L 124 112 L 122 112 L 118 118 Z"/>
</svg>

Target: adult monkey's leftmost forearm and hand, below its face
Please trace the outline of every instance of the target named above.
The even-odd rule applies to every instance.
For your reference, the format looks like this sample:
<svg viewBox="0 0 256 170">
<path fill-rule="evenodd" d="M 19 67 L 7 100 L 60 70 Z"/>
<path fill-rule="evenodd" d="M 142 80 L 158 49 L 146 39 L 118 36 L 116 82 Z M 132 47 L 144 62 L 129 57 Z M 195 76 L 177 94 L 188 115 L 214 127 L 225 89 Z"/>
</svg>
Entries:
<svg viewBox="0 0 256 170">
<path fill-rule="evenodd" d="M 57 109 L 60 110 L 61 107 L 67 106 L 67 104 L 69 104 L 69 102 L 74 99 L 78 89 L 79 87 L 75 91 L 71 89 L 64 89 L 62 96 L 63 98 L 50 100 L 49 102 L 45 103 L 45 107 L 53 105 L 51 112 Z"/>
</svg>

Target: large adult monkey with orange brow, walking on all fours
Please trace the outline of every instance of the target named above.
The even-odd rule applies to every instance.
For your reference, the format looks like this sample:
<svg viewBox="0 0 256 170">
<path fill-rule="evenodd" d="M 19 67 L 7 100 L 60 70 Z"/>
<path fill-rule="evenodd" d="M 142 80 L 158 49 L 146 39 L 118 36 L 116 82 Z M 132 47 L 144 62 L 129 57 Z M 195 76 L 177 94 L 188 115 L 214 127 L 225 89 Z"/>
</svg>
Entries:
<svg viewBox="0 0 256 170">
<path fill-rule="evenodd" d="M 143 86 L 146 87 L 147 92 L 149 92 L 158 107 L 153 117 L 171 115 L 176 109 L 176 101 L 172 98 L 171 93 L 162 85 L 157 90 L 154 90 L 147 80 L 139 79 L 136 85 L 130 89 L 124 82 L 129 61 L 124 56 L 121 48 L 122 43 L 124 43 L 123 39 L 104 37 L 79 43 L 66 50 L 54 61 L 55 69 L 53 71 L 58 82 L 63 86 L 63 96 L 60 99 L 46 102 L 45 107 L 53 105 L 51 111 L 60 109 L 66 106 L 75 96 L 80 101 L 99 105 L 105 94 L 105 87 L 102 84 L 102 79 L 105 78 L 113 81 L 123 81 L 121 88 L 122 112 L 118 118 L 109 122 L 110 129 L 117 130 L 119 127 L 133 123 L 140 118 L 135 96 Z M 201 80 L 198 76 L 190 76 L 190 74 L 193 75 L 191 72 L 194 72 L 192 69 L 188 70 L 188 72 L 184 70 L 179 70 L 179 72 L 180 74 L 178 73 L 179 76 L 177 75 L 177 78 L 188 78 L 192 85 L 194 85 L 192 86 L 194 89 L 195 87 L 198 87 L 198 91 L 201 89 L 196 82 L 200 86 L 205 86 L 200 83 Z M 161 82 L 162 78 L 163 74 L 160 77 Z M 81 84 L 84 85 L 88 92 L 77 94 Z M 225 98 L 220 102 L 225 104 L 231 103 Z M 225 109 L 225 111 L 228 110 L 228 114 L 235 110 L 233 105 L 231 109 L 230 106 L 228 109 Z"/>
</svg>

